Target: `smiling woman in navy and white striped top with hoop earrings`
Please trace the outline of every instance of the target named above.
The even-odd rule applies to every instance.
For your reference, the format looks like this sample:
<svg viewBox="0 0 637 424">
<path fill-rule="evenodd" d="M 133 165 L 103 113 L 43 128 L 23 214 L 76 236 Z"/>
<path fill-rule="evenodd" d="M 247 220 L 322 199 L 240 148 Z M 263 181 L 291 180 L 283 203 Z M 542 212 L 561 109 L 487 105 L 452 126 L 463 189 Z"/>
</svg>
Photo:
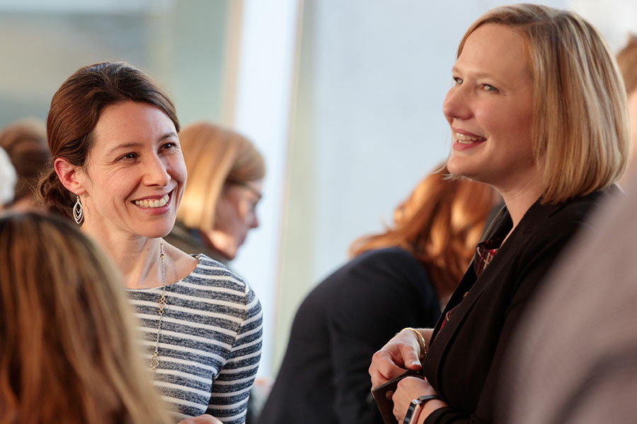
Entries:
<svg viewBox="0 0 637 424">
<path fill-rule="evenodd" d="M 54 166 L 40 194 L 122 271 L 148 366 L 176 416 L 240 424 L 260 359 L 260 303 L 226 266 L 162 239 L 187 178 L 179 129 L 173 103 L 139 69 L 84 66 L 51 101 Z"/>
</svg>

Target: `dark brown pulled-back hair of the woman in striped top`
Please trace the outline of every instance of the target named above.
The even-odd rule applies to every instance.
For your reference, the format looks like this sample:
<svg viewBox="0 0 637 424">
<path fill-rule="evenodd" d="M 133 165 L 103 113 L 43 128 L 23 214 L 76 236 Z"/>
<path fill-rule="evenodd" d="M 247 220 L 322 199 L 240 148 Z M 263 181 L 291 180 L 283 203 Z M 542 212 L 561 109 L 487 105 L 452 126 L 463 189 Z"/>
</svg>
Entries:
<svg viewBox="0 0 637 424">
<path fill-rule="evenodd" d="M 47 139 L 52 158 L 84 166 L 101 112 L 129 100 L 158 107 L 179 132 L 173 102 L 146 73 L 125 62 L 84 66 L 62 83 L 51 100 Z M 71 217 L 74 196 L 64 188 L 52 166 L 42 175 L 38 192 L 47 210 Z"/>
</svg>

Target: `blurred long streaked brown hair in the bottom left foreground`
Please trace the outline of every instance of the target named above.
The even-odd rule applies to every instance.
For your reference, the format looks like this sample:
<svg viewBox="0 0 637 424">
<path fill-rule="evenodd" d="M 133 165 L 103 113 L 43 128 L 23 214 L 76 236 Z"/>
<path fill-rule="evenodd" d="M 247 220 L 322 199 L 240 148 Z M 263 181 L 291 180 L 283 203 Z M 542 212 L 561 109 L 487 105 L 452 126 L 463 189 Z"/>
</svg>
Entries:
<svg viewBox="0 0 637 424">
<path fill-rule="evenodd" d="M 72 223 L 0 218 L 0 423 L 171 423 L 120 275 Z"/>
</svg>

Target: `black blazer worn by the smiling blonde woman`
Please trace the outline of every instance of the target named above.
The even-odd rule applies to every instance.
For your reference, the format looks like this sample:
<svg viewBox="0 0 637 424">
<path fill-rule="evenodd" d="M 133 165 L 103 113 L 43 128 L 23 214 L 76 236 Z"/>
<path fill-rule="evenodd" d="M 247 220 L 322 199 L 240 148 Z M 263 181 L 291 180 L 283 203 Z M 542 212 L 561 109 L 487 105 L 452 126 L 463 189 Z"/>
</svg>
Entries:
<svg viewBox="0 0 637 424">
<path fill-rule="evenodd" d="M 558 205 L 537 201 L 480 278 L 469 266 L 442 316 L 457 308 L 442 331 L 444 318 L 437 323 L 423 364 L 449 408 L 435 411 L 425 423 L 493 422 L 498 371 L 520 314 L 602 195 L 594 192 Z M 503 208 L 485 239 L 505 237 L 511 226 Z"/>
</svg>

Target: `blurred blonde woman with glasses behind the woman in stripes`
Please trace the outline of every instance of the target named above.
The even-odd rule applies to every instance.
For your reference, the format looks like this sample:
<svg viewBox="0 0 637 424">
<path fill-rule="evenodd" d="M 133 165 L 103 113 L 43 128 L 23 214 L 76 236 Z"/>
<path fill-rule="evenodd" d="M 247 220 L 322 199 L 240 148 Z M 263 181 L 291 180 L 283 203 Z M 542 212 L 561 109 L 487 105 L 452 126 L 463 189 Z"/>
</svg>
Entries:
<svg viewBox="0 0 637 424">
<path fill-rule="evenodd" d="M 171 234 L 180 240 L 170 240 L 230 261 L 259 226 L 263 156 L 246 137 L 210 122 L 185 126 L 179 139 L 189 177 Z"/>
</svg>

